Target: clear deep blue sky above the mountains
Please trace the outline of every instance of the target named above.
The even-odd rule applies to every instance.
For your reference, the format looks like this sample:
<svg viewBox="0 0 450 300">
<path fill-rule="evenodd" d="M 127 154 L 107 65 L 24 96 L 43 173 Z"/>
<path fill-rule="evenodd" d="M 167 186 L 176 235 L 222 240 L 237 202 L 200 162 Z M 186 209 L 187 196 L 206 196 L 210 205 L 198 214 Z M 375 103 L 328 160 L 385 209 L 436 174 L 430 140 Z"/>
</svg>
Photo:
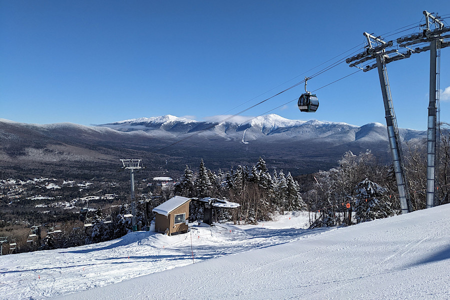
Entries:
<svg viewBox="0 0 450 300">
<path fill-rule="evenodd" d="M 450 1 L 0 0 L 0 117 L 79 124 L 163 114 L 202 120 L 252 99 L 227 112 L 233 114 L 364 42 L 363 31 L 383 34 L 418 23 L 424 9 L 450 14 Z M 441 54 L 445 89 L 450 47 Z M 426 129 L 428 63 L 423 52 L 387 65 L 400 127 Z M 355 70 L 342 63 L 309 80 L 308 89 Z M 259 115 L 302 92 L 301 84 L 244 115 Z M 272 112 L 385 123 L 376 69 L 316 93 L 315 113 L 300 112 L 295 101 Z M 450 99 L 441 102 L 441 120 L 450 121 L 449 108 Z"/>
</svg>

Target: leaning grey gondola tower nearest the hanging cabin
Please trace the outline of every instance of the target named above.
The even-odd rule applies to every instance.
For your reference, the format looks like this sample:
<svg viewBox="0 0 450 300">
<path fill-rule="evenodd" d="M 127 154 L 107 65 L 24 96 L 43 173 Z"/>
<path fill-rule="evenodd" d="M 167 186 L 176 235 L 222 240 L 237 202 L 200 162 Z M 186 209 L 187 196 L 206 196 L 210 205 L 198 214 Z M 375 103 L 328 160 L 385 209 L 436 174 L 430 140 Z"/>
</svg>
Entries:
<svg viewBox="0 0 450 300">
<path fill-rule="evenodd" d="M 374 36 L 367 32 L 364 32 L 363 34 L 367 38 L 367 46 L 365 51 L 353 57 L 347 58 L 346 62 L 350 63 L 354 61 L 350 63 L 349 66 L 358 67 L 358 64 L 362 64 L 365 61 L 371 60 L 373 58 L 376 60 L 375 64 L 367 65 L 362 70 L 365 72 L 375 67 L 378 69 L 379 83 L 381 85 L 381 93 L 383 95 L 384 102 L 387 134 L 389 137 L 390 154 L 392 156 L 395 180 L 397 182 L 398 195 L 400 198 L 401 213 L 407 213 L 411 211 L 411 203 L 405 180 L 406 176 L 404 171 L 403 154 L 401 151 L 398 127 L 393 110 L 389 79 L 387 78 L 386 64 L 391 61 L 409 57 L 411 55 L 411 51 L 408 50 L 404 53 L 399 53 L 396 49 L 386 50 L 386 48 L 392 46 L 392 41 L 383 41 L 380 37 Z M 389 57 L 389 53 L 396 54 Z"/>
</svg>

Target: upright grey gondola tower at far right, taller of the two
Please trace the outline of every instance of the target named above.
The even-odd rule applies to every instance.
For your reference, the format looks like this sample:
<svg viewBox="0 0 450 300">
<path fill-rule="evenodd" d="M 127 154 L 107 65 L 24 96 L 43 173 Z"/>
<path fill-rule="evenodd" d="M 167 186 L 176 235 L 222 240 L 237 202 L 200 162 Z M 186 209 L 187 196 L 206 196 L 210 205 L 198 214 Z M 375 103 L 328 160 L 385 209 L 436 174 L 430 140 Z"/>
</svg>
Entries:
<svg viewBox="0 0 450 300">
<path fill-rule="evenodd" d="M 413 53 L 430 51 L 429 56 L 429 104 L 428 104 L 428 127 L 427 127 L 427 155 L 426 155 L 426 208 L 433 207 L 436 202 L 436 184 L 439 150 L 439 61 L 440 49 L 450 45 L 450 41 L 444 38 L 449 34 L 442 33 L 450 31 L 445 27 L 439 16 L 433 16 L 424 10 L 425 23 L 421 24 L 422 31 L 405 37 L 397 38 L 397 44 L 408 47 L 413 44 L 429 42 L 429 46 L 411 49 Z M 431 28 L 431 25 L 434 28 Z"/>
</svg>

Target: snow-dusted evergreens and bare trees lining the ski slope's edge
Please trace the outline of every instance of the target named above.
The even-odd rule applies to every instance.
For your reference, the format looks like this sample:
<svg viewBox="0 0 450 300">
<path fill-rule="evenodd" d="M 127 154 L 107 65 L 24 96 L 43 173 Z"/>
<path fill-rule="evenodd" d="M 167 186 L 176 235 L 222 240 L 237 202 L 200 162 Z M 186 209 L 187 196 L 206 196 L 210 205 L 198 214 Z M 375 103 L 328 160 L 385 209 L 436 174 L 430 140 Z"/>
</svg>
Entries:
<svg viewBox="0 0 450 300">
<path fill-rule="evenodd" d="M 413 139 L 404 144 L 406 181 L 412 210 L 426 207 L 426 139 Z M 443 124 L 436 165 L 435 205 L 450 202 L 450 126 Z M 214 209 L 216 222 L 256 224 L 270 220 L 286 211 L 309 212 L 310 228 L 350 225 L 400 213 L 397 187 L 392 165 L 379 163 L 369 151 L 345 152 L 336 167 L 294 178 L 289 171 L 269 170 L 263 158 L 254 165 L 230 166 L 227 171 L 208 169 L 200 160 L 195 172 L 186 165 L 183 174 L 172 187 L 159 189 L 149 203 L 136 206 L 137 222 L 148 224 L 151 209 L 173 195 L 185 197 L 227 198 L 237 202 L 236 209 Z M 149 193 L 148 195 L 153 195 Z M 191 202 L 190 220 L 201 220 L 202 205 Z M 79 221 L 67 221 L 62 233 L 47 236 L 42 245 L 29 244 L 27 250 L 76 246 L 120 237 L 131 231 L 129 203 L 122 201 L 110 211 L 112 223 L 105 223 L 104 212 L 97 209 L 92 226 L 83 227 Z"/>
</svg>

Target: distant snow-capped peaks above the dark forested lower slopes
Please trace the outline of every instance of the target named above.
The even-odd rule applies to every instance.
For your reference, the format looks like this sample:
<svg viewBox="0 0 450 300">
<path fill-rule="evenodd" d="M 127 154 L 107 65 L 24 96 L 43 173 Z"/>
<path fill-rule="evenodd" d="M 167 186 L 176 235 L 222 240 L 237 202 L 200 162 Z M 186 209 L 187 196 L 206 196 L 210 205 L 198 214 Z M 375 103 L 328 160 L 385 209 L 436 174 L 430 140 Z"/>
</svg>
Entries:
<svg viewBox="0 0 450 300">
<path fill-rule="evenodd" d="M 368 123 L 363 126 L 343 122 L 322 122 L 318 120 L 291 120 L 277 114 L 261 115 L 239 122 L 233 118 L 225 121 L 196 121 L 187 118 L 164 115 L 158 117 L 141 117 L 117 121 L 99 126 L 109 127 L 118 131 L 130 132 L 141 130 L 160 136 L 180 136 L 184 134 L 200 135 L 202 138 L 211 136 L 226 140 L 237 140 L 242 143 L 255 139 L 265 141 L 278 139 L 327 139 L 339 144 L 351 141 L 387 141 L 387 131 L 383 124 Z M 212 136 L 213 135 L 213 136 Z M 411 139 L 423 135 L 423 131 L 400 129 L 402 139 Z"/>
</svg>

